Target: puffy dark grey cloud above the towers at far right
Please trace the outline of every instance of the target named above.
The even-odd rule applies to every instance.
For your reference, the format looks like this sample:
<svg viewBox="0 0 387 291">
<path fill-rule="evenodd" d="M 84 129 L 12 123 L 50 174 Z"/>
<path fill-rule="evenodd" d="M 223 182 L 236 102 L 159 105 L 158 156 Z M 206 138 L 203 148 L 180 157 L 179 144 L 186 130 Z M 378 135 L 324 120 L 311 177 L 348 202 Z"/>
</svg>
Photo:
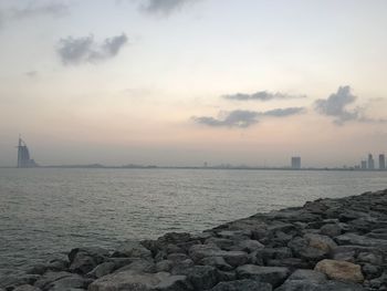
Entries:
<svg viewBox="0 0 387 291">
<path fill-rule="evenodd" d="M 354 104 L 356 96 L 352 94 L 349 86 L 338 87 L 336 93 L 333 93 L 326 100 L 317 100 L 315 110 L 323 115 L 333 116 L 334 123 L 342 125 L 348 121 L 360 121 L 359 107 L 348 110 L 347 106 Z"/>
</svg>

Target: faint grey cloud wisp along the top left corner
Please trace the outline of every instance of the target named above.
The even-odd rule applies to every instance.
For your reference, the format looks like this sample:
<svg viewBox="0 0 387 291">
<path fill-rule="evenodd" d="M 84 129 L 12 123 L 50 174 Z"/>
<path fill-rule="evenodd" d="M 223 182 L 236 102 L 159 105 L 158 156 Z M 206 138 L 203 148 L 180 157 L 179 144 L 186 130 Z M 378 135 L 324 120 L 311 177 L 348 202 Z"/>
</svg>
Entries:
<svg viewBox="0 0 387 291">
<path fill-rule="evenodd" d="M 60 2 L 50 2 L 45 4 L 36 4 L 30 2 L 29 6 L 24 8 L 13 8 L 11 10 L 12 18 L 14 19 L 25 19 L 41 15 L 50 15 L 56 18 L 66 15 L 69 12 L 69 7 Z"/>
</svg>

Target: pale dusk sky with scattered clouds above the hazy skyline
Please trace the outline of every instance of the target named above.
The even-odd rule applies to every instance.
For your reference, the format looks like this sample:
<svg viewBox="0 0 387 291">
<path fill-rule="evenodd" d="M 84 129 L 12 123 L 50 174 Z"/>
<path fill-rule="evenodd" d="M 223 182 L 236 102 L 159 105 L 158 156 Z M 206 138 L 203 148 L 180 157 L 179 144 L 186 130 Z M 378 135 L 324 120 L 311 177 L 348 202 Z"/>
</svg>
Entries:
<svg viewBox="0 0 387 291">
<path fill-rule="evenodd" d="M 1 0 L 0 166 L 387 152 L 385 0 Z"/>
</svg>

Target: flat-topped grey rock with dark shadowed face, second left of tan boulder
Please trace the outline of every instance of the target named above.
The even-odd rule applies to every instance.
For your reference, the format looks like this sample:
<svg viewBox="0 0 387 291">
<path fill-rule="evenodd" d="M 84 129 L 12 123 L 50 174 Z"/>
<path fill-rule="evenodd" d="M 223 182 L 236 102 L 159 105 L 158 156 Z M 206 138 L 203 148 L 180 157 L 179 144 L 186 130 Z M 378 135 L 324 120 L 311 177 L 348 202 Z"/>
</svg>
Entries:
<svg viewBox="0 0 387 291">
<path fill-rule="evenodd" d="M 239 279 L 258 280 L 260 282 L 270 283 L 273 287 L 282 284 L 289 274 L 289 269 L 282 267 L 244 264 L 237 268 L 237 276 Z"/>
</svg>

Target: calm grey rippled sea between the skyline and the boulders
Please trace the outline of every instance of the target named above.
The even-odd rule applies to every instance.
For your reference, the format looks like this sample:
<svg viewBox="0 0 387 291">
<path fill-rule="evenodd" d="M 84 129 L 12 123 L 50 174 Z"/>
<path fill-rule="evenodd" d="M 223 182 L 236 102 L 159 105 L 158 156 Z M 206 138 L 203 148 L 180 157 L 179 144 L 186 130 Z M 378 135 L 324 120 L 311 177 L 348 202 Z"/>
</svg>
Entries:
<svg viewBox="0 0 387 291">
<path fill-rule="evenodd" d="M 386 172 L 0 169 L 0 272 L 73 247 L 113 248 L 384 188 Z"/>
</svg>

